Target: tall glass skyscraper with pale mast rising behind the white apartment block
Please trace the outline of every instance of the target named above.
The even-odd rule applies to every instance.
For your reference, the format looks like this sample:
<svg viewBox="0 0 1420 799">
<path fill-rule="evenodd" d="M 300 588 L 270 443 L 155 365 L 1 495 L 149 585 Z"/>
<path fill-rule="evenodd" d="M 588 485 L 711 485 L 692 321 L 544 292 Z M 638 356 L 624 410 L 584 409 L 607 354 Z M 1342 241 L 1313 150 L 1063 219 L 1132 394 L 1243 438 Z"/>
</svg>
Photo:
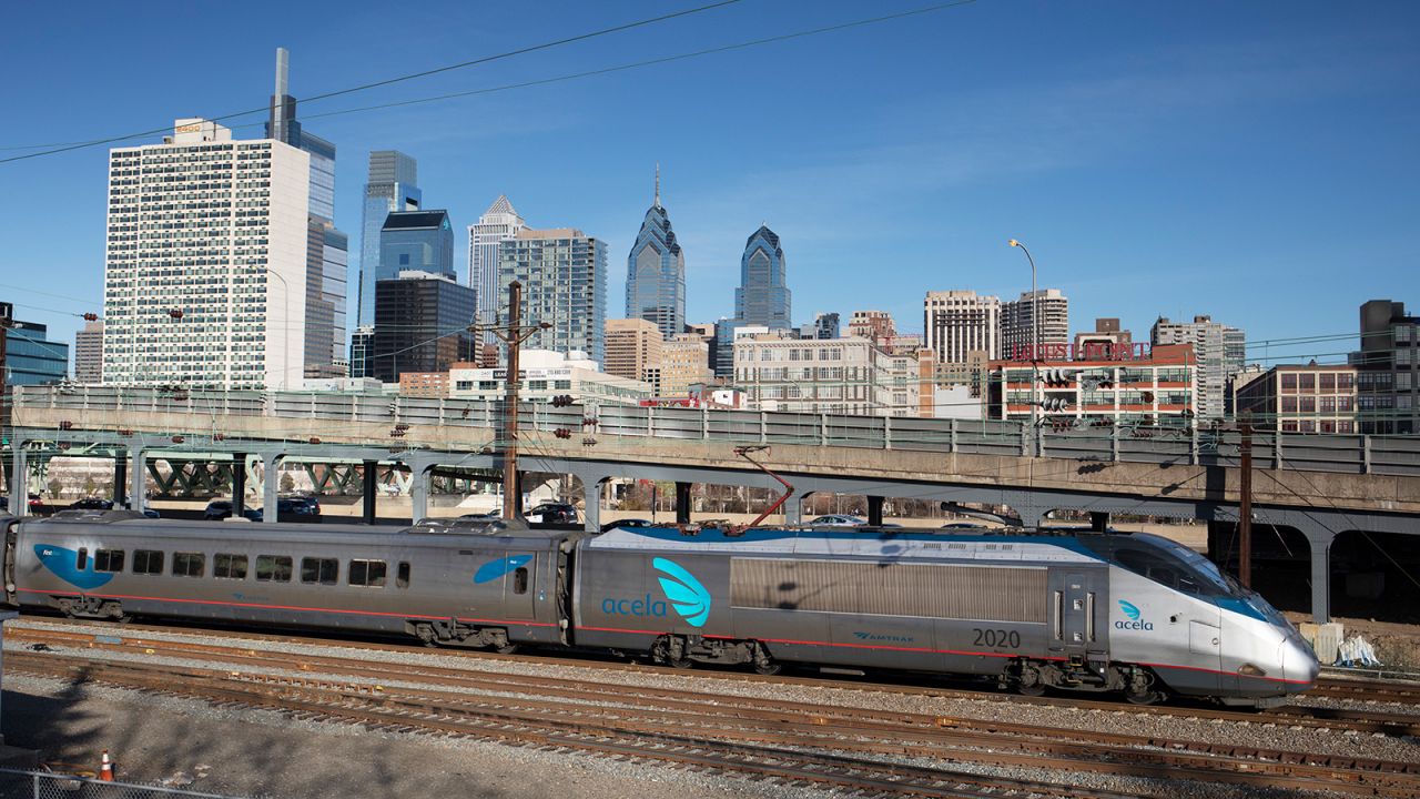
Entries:
<svg viewBox="0 0 1420 799">
<path fill-rule="evenodd" d="M 271 95 L 266 134 L 268 139 L 285 142 L 311 156 L 307 270 L 304 291 L 298 291 L 304 294 L 304 375 L 344 377 L 335 361 L 345 358 L 349 237 L 335 227 L 335 145 L 304 131 L 295 121 L 295 98 L 287 94 L 287 61 L 285 48 L 278 47 L 275 94 Z"/>
</svg>

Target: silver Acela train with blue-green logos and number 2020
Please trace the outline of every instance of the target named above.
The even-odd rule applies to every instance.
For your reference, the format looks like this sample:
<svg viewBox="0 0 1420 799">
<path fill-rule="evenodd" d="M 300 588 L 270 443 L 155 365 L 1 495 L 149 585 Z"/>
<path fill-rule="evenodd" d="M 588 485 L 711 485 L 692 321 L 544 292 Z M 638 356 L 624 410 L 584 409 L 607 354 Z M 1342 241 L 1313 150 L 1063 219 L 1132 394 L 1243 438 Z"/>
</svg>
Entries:
<svg viewBox="0 0 1420 799">
<path fill-rule="evenodd" d="M 963 674 L 1003 688 L 1269 705 L 1319 665 L 1262 597 L 1143 533 L 508 522 L 0 522 L 4 599 L 133 616 L 569 647 L 689 667 Z"/>
</svg>

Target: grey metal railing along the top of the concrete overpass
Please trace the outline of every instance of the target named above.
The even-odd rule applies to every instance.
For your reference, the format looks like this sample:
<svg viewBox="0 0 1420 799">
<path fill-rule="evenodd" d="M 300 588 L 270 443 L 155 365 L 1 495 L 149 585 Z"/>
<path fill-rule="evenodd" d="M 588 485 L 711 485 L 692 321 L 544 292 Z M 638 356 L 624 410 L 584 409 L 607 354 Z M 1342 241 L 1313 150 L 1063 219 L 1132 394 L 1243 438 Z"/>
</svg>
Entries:
<svg viewBox="0 0 1420 799">
<path fill-rule="evenodd" d="M 23 387 L 16 411 L 28 408 L 122 414 L 152 412 L 207 417 L 182 432 L 222 429 L 224 417 L 293 421 L 389 422 L 449 428 L 491 428 L 501 402 L 372 394 L 297 391 L 165 391 L 121 387 Z M 584 424 L 588 418 L 594 424 Z M 616 435 L 737 444 L 795 444 L 859 449 L 897 449 L 970 455 L 1039 455 L 1072 461 L 1238 465 L 1237 431 L 1173 427 L 1031 427 L 995 419 L 924 419 L 851 417 L 709 408 L 601 405 L 554 408 L 525 402 L 524 429 L 568 429 L 574 436 Z M 168 431 L 163 431 L 168 432 Z M 1329 434 L 1252 434 L 1252 462 L 1260 469 L 1296 469 L 1358 475 L 1420 476 L 1420 436 Z"/>
</svg>

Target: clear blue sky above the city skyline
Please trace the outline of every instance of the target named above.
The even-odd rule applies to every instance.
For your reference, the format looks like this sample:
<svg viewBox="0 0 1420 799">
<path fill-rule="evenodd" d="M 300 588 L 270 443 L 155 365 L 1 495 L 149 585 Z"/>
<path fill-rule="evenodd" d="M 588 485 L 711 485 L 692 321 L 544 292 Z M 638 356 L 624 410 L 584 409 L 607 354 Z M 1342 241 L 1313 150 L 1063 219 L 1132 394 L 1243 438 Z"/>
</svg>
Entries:
<svg viewBox="0 0 1420 799">
<path fill-rule="evenodd" d="M 0 27 L 0 146 L 74 142 L 540 44 L 709 0 L 20 3 Z M 531 88 L 930 0 L 743 0 L 591 41 L 302 104 L 339 148 L 337 225 L 358 260 L 371 149 L 419 161 L 463 227 L 498 193 L 534 226 L 609 243 L 608 317 L 662 165 L 687 316 L 734 311 L 746 237 L 780 233 L 794 317 L 892 311 L 927 290 L 1014 297 L 1035 254 L 1071 327 L 1159 316 L 1250 340 L 1355 333 L 1376 297 L 1420 311 L 1420 4 L 978 0 L 906 20 Z M 264 115 L 234 119 L 257 138 Z M 155 144 L 153 136 L 125 144 Z M 0 151 L 0 158 L 24 149 Z M 72 341 L 99 311 L 106 149 L 0 165 L 0 299 Z M 351 274 L 354 290 L 355 274 Z M 354 296 L 351 297 L 354 309 Z M 1257 348 L 1269 363 L 1345 341 Z"/>
</svg>

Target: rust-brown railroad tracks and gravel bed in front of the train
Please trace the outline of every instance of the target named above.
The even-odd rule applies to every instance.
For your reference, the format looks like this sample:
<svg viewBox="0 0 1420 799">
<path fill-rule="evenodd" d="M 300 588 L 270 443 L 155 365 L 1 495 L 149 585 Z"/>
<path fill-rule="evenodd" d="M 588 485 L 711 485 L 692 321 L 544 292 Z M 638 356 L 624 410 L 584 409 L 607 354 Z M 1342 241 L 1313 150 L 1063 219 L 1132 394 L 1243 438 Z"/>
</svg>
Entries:
<svg viewBox="0 0 1420 799">
<path fill-rule="evenodd" d="M 869 796 L 1414 796 L 1414 688 L 1322 680 L 1269 711 L 1028 698 L 870 675 L 763 677 L 381 641 L 26 618 L 7 671 L 496 741 L 764 790 Z"/>
</svg>

